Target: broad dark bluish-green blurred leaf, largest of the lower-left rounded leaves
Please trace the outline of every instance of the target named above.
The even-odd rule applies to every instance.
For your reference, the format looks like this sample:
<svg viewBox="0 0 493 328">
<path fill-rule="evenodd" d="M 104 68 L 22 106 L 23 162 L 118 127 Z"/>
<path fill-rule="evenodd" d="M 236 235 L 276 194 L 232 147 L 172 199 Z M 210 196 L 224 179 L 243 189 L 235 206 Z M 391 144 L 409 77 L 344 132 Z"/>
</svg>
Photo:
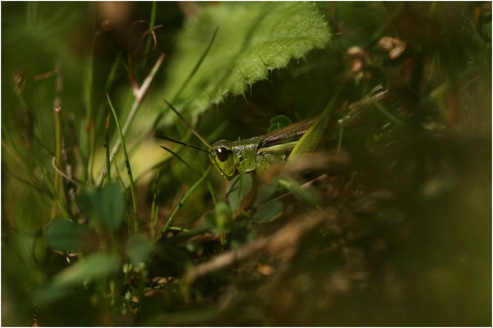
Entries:
<svg viewBox="0 0 493 328">
<path fill-rule="evenodd" d="M 125 195 L 118 183 L 86 189 L 78 195 L 77 204 L 90 221 L 105 231 L 114 233 L 122 223 Z"/>
</svg>

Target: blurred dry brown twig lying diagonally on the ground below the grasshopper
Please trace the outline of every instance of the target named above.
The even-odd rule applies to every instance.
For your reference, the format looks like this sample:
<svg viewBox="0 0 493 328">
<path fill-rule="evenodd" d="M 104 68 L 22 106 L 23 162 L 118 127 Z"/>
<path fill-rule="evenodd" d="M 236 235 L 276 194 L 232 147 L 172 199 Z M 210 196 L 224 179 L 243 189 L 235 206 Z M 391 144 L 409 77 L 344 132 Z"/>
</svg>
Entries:
<svg viewBox="0 0 493 328">
<path fill-rule="evenodd" d="M 281 252 L 281 258 L 286 261 L 296 253 L 297 243 L 305 233 L 323 221 L 335 219 L 337 214 L 337 211 L 332 208 L 321 212 L 308 213 L 304 217 L 286 224 L 270 236 L 258 238 L 245 247 L 224 252 L 213 257 L 208 262 L 195 266 L 186 274 L 185 281 L 191 284 L 200 277 L 233 265 L 260 252 L 269 252 L 271 254 Z"/>
</svg>

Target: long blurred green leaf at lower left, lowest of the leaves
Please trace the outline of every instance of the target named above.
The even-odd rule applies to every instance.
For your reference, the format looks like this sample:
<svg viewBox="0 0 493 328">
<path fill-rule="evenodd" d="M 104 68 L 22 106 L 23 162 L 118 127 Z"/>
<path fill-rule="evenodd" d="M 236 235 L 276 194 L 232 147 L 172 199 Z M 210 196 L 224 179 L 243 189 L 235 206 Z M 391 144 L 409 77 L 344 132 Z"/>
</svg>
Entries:
<svg viewBox="0 0 493 328">
<path fill-rule="evenodd" d="M 53 280 L 37 294 L 40 302 L 54 301 L 64 296 L 70 287 L 86 280 L 106 278 L 118 270 L 120 257 L 105 252 L 89 255 L 58 273 Z"/>
</svg>

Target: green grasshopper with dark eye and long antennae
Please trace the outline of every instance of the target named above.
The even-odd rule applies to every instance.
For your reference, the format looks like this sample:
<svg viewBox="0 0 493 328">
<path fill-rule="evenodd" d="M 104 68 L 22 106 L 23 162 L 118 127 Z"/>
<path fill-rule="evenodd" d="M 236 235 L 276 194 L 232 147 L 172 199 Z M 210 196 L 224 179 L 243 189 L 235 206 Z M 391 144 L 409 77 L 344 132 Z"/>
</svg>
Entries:
<svg viewBox="0 0 493 328">
<path fill-rule="evenodd" d="M 368 108 L 374 102 L 388 98 L 388 95 L 389 90 L 386 88 L 381 85 L 375 87 L 365 98 L 351 104 L 347 109 L 347 114 L 339 119 L 336 124 L 345 126 L 355 122 L 363 109 Z M 177 142 L 166 137 L 160 138 L 207 152 L 213 166 L 227 180 L 233 179 L 239 173 L 251 172 L 255 173 L 257 177 L 262 176 L 271 165 L 284 162 L 298 143 L 311 142 L 315 144 L 312 148 L 315 148 L 319 140 L 304 141 L 300 139 L 302 139 L 310 128 L 312 130 L 314 128 L 317 129 L 317 131 L 313 132 L 314 135 L 318 136 L 317 139 L 319 139 L 326 126 L 326 124 L 319 123 L 321 121 L 328 122 L 328 117 L 330 116 L 330 111 L 324 110 L 319 116 L 291 124 L 263 136 L 240 139 L 238 141 L 220 140 L 209 145 L 170 103 L 166 100 L 165 103 L 208 146 L 209 150 Z"/>
</svg>

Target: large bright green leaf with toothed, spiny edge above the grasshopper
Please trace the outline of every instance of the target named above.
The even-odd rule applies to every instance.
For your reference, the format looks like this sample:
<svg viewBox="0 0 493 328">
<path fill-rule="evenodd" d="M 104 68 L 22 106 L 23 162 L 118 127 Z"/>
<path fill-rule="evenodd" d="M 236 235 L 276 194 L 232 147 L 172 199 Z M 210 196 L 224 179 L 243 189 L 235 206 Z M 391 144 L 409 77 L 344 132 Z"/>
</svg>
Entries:
<svg viewBox="0 0 493 328">
<path fill-rule="evenodd" d="M 176 98 L 201 54 L 217 36 L 190 83 Z M 308 2 L 219 3 L 208 5 L 177 36 L 164 94 L 176 106 L 196 114 L 224 96 L 244 94 L 269 72 L 286 67 L 330 40 L 330 30 L 317 6 Z M 171 116 L 168 116 L 171 117 Z"/>
</svg>

